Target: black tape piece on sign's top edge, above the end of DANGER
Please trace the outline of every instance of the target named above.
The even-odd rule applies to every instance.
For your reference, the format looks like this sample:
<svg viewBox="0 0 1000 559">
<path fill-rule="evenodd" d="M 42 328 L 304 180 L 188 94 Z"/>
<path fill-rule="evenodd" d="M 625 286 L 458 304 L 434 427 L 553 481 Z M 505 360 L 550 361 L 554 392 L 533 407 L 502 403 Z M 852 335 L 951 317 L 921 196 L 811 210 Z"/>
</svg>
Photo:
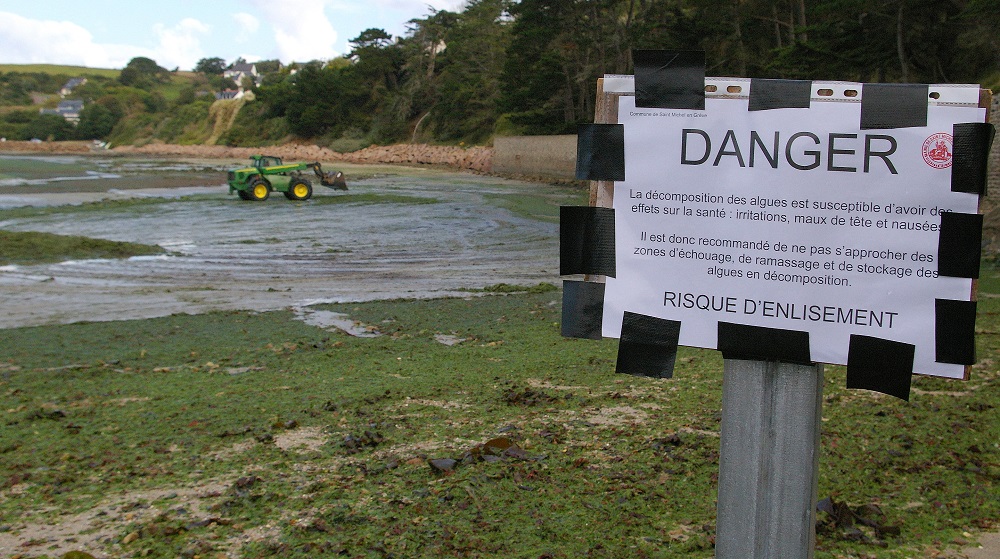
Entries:
<svg viewBox="0 0 1000 559">
<path fill-rule="evenodd" d="M 928 88 L 916 83 L 866 83 L 861 89 L 861 129 L 927 126 Z"/>
</svg>

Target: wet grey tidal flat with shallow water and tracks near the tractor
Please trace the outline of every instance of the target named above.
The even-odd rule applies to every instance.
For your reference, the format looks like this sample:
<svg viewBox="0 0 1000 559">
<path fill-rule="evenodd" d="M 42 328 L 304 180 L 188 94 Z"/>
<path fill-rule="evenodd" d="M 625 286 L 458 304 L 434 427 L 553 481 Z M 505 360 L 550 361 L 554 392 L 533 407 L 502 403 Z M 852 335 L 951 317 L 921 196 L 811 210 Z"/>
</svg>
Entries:
<svg viewBox="0 0 1000 559">
<path fill-rule="evenodd" d="M 129 172 L 141 181 L 138 167 Z M 152 167 L 149 172 L 168 183 L 166 173 L 190 173 Z M 322 187 L 304 203 L 280 194 L 245 202 L 227 195 L 225 186 L 120 191 L 115 181 L 106 181 L 103 193 L 44 194 L 49 203 L 78 203 L 81 195 L 109 190 L 111 197 L 173 198 L 30 218 L 0 212 L 0 227 L 157 244 L 171 255 L 0 268 L 0 327 L 301 309 L 317 301 L 437 297 L 501 282 L 559 281 L 558 223 L 515 215 L 496 200 L 542 195 L 557 214 L 558 205 L 578 203 L 578 192 L 471 174 L 399 173 L 360 181 L 349 175 L 348 194 L 438 202 L 323 203 L 344 193 Z M 38 195 L 0 195 L 0 207 Z"/>
</svg>

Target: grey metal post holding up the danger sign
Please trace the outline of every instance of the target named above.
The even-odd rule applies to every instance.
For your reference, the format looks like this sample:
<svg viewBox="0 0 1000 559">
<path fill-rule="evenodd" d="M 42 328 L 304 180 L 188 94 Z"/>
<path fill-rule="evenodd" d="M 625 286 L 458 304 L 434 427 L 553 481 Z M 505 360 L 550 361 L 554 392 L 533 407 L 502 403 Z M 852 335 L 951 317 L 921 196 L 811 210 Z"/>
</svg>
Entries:
<svg viewBox="0 0 1000 559">
<path fill-rule="evenodd" d="M 823 365 L 727 359 L 717 559 L 811 559 Z"/>
</svg>

